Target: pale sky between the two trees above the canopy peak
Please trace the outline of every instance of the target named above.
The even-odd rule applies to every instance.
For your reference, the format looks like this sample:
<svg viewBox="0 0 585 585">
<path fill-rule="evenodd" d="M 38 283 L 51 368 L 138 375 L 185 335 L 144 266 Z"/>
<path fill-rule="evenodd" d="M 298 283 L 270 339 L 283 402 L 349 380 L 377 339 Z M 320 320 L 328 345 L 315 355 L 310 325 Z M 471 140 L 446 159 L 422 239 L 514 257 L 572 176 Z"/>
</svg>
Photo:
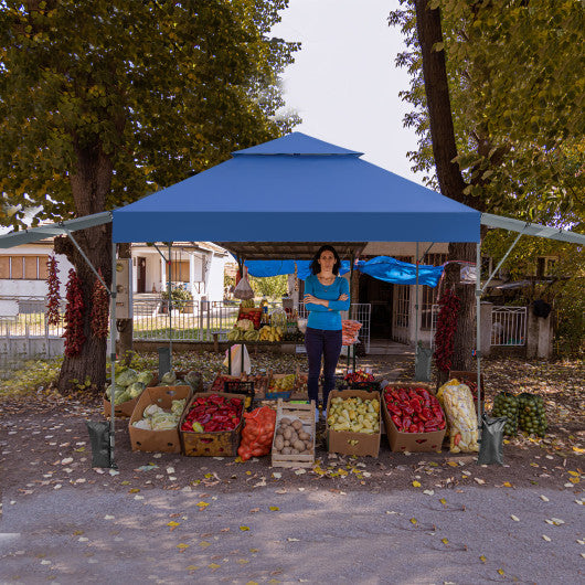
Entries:
<svg viewBox="0 0 585 585">
<path fill-rule="evenodd" d="M 387 17 L 397 0 L 289 0 L 273 35 L 301 42 L 283 74 L 287 107 L 302 118 L 295 130 L 364 152 L 364 160 L 422 184 L 406 157 L 417 136 L 403 127 L 410 105 L 404 50 Z"/>
</svg>

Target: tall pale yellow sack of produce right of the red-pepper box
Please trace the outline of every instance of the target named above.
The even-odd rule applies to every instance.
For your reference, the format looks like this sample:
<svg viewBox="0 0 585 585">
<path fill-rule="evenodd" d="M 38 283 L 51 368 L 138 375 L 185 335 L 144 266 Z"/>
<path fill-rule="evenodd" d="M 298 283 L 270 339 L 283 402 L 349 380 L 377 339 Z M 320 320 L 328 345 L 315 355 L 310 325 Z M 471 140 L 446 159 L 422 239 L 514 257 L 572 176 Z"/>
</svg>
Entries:
<svg viewBox="0 0 585 585">
<path fill-rule="evenodd" d="M 451 453 L 477 453 L 477 415 L 474 396 L 469 386 L 451 380 L 440 386 L 439 392 L 443 406 L 449 422 L 449 438 Z"/>
</svg>

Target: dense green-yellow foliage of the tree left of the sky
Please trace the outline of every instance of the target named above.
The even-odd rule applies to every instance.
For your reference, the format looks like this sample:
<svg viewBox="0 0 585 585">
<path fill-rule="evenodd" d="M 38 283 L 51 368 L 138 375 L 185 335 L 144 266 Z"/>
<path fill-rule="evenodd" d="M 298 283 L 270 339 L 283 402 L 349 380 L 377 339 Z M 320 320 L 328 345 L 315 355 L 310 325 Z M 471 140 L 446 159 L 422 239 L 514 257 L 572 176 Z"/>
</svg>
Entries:
<svg viewBox="0 0 585 585">
<path fill-rule="evenodd" d="M 2 222 L 113 209 L 288 131 L 278 75 L 297 45 L 268 36 L 286 6 L 0 3 Z M 91 168 L 99 196 L 76 191 Z"/>
</svg>

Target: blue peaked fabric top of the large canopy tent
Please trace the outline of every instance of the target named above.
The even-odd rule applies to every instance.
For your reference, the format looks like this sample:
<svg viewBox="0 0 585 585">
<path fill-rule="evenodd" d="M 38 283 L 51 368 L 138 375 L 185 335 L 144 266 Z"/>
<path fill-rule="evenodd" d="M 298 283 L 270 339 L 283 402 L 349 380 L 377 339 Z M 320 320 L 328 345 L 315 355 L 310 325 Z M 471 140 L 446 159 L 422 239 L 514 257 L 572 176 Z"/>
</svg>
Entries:
<svg viewBox="0 0 585 585">
<path fill-rule="evenodd" d="M 480 213 L 292 132 L 114 211 L 114 242 L 479 242 Z"/>
</svg>

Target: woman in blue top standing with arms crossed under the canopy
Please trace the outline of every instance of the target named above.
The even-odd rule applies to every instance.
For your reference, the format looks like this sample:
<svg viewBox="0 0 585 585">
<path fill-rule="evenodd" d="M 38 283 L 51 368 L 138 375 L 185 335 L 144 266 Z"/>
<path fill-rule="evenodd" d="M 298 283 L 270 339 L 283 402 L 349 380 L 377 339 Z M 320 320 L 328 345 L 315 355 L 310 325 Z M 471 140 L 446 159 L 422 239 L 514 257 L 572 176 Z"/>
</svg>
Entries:
<svg viewBox="0 0 585 585">
<path fill-rule="evenodd" d="M 341 260 L 333 246 L 319 248 L 310 265 L 311 275 L 305 280 L 305 307 L 309 311 L 305 347 L 309 359 L 309 400 L 317 406 L 319 419 L 319 374 L 323 358 L 323 418 L 327 397 L 336 385 L 336 368 L 341 353 L 341 315 L 350 307 L 350 287 L 339 275 Z"/>
</svg>

